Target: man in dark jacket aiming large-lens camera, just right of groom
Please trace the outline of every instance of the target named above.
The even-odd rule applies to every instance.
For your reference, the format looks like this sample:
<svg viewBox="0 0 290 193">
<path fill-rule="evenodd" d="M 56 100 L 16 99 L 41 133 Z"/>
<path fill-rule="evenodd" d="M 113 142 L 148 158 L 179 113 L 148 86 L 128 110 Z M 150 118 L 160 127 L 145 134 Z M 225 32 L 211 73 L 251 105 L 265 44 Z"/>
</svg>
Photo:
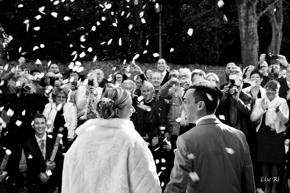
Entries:
<svg viewBox="0 0 290 193">
<path fill-rule="evenodd" d="M 225 124 L 243 131 L 248 140 L 250 132 L 247 131 L 247 116 L 251 114 L 252 96 L 242 91 L 241 75 L 240 67 L 230 68 L 230 81 L 224 86 L 218 108 L 223 110 Z"/>
</svg>

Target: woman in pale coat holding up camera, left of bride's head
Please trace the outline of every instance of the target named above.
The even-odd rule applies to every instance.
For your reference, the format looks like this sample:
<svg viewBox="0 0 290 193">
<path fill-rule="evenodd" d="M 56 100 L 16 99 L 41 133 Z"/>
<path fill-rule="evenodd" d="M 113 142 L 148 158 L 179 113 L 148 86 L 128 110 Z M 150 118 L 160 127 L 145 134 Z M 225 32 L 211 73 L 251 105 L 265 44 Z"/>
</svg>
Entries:
<svg viewBox="0 0 290 193">
<path fill-rule="evenodd" d="M 95 119 L 97 117 L 97 103 L 102 94 L 103 89 L 98 87 L 96 75 L 87 74 L 88 83 L 79 86 L 76 91 L 76 106 L 78 108 L 79 125 L 85 120 Z"/>
</svg>

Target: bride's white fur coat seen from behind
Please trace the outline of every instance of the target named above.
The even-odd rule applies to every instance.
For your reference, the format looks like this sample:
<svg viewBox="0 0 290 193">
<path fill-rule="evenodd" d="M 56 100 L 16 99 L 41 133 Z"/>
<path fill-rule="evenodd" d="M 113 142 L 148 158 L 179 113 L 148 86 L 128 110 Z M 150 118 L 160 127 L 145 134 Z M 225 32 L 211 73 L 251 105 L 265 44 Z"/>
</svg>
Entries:
<svg viewBox="0 0 290 193">
<path fill-rule="evenodd" d="M 91 119 L 65 154 L 63 193 L 160 193 L 153 156 L 126 119 Z"/>
</svg>

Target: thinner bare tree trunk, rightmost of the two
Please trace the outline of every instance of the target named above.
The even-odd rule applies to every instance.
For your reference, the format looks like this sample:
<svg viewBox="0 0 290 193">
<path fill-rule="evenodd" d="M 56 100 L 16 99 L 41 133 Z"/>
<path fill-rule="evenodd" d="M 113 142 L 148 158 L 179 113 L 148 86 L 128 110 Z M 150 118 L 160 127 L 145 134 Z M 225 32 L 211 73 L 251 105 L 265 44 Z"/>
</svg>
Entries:
<svg viewBox="0 0 290 193">
<path fill-rule="evenodd" d="M 268 17 L 270 18 L 270 23 L 272 25 L 272 40 L 269 45 L 269 52 L 274 55 L 280 53 L 280 46 L 282 40 L 282 24 L 283 24 L 283 8 L 282 0 L 277 2 L 275 5 L 270 5 L 268 11 Z"/>
</svg>

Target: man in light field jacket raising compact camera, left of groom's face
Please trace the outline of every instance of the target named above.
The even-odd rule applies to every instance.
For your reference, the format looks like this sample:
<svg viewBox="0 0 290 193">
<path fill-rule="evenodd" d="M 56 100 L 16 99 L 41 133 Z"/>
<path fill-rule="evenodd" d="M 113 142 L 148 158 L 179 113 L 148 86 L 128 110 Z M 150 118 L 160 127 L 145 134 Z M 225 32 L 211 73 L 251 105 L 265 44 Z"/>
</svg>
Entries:
<svg viewBox="0 0 290 193">
<path fill-rule="evenodd" d="M 188 124 L 185 120 L 184 111 L 180 109 L 181 103 L 183 102 L 182 96 L 185 94 L 186 90 L 189 87 L 191 72 L 186 68 L 181 68 L 179 70 L 179 76 L 177 78 L 171 78 L 168 82 L 166 82 L 160 89 L 160 96 L 171 100 L 169 103 L 170 109 L 168 113 L 168 130 L 171 134 L 171 144 L 172 149 L 176 149 L 176 140 L 180 134 L 185 133 L 189 129 L 191 129 L 194 125 Z M 179 83 L 184 83 L 182 85 L 177 85 L 177 81 Z M 186 83 L 186 81 L 188 83 Z"/>
</svg>

